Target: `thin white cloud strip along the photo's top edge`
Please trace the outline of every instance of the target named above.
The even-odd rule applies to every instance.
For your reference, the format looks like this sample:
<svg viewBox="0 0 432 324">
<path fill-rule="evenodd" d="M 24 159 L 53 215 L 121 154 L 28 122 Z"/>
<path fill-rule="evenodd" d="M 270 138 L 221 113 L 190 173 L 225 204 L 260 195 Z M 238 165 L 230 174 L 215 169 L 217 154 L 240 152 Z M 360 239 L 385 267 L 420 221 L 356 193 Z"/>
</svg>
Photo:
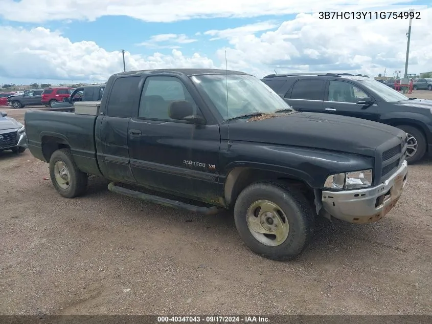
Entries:
<svg viewBox="0 0 432 324">
<path fill-rule="evenodd" d="M 404 2 L 361 0 L 356 8 L 361 10 Z M 192 18 L 257 17 L 337 10 L 346 3 L 346 0 L 2 0 L 0 16 L 14 21 L 42 23 L 71 17 L 96 20 L 102 16 L 125 15 L 144 21 L 167 23 Z"/>
</svg>

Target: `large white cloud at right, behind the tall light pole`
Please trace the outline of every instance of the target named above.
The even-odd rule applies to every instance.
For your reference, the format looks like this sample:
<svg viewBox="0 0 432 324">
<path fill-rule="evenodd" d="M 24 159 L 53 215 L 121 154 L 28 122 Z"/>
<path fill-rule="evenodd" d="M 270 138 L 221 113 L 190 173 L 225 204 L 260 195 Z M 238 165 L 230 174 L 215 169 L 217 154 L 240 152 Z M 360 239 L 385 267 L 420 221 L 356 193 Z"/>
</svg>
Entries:
<svg viewBox="0 0 432 324">
<path fill-rule="evenodd" d="M 432 8 L 413 20 L 408 73 L 430 71 L 432 66 Z M 376 76 L 387 68 L 404 70 L 407 20 L 323 20 L 319 14 L 298 14 L 275 31 L 245 34 L 239 29 L 212 30 L 228 40 L 228 61 L 244 62 L 265 73 L 351 72 Z M 238 30 L 239 32 L 233 32 Z M 206 34 L 206 33 L 204 33 Z M 224 60 L 225 49 L 217 51 Z M 246 63 L 247 62 L 247 63 Z"/>
</svg>

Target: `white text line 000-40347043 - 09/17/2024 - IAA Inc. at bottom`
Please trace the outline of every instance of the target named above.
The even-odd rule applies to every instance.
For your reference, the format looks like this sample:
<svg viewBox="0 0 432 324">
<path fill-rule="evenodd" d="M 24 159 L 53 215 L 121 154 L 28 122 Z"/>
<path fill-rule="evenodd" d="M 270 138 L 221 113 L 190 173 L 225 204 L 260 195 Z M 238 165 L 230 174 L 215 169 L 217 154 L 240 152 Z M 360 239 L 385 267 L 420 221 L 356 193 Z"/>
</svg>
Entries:
<svg viewBox="0 0 432 324">
<path fill-rule="evenodd" d="M 269 323 L 265 316 L 157 316 L 158 323 L 203 322 L 203 323 Z M 269 323 L 270 324 L 270 323 Z"/>
</svg>

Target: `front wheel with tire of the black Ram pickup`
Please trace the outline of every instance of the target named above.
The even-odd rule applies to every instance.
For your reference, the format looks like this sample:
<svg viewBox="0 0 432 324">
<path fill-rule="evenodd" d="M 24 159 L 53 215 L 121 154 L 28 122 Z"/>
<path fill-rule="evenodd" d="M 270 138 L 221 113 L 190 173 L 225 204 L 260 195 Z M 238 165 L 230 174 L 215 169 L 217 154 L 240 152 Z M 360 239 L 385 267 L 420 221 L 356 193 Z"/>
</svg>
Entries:
<svg viewBox="0 0 432 324">
<path fill-rule="evenodd" d="M 256 206 L 262 206 L 268 210 L 271 210 L 269 206 L 272 208 L 276 206 L 279 212 L 267 213 L 267 215 L 271 214 L 274 219 L 269 224 L 266 221 L 269 217 L 264 213 L 259 215 L 260 212 Z M 280 212 L 282 212 L 282 217 Z M 271 260 L 287 261 L 299 255 L 311 241 L 315 215 L 301 193 L 280 183 L 258 182 L 243 189 L 238 196 L 234 206 L 234 220 L 240 237 L 249 249 Z M 280 242 L 277 242 L 274 240 L 275 237 L 277 238 L 276 235 L 269 237 L 268 234 L 249 229 L 248 224 L 251 223 L 259 226 L 260 230 L 264 227 L 268 229 L 268 226 L 275 226 L 275 224 L 279 224 L 278 229 L 286 229 L 286 224 L 288 224 L 288 231 L 285 235 L 280 235 Z"/>
</svg>

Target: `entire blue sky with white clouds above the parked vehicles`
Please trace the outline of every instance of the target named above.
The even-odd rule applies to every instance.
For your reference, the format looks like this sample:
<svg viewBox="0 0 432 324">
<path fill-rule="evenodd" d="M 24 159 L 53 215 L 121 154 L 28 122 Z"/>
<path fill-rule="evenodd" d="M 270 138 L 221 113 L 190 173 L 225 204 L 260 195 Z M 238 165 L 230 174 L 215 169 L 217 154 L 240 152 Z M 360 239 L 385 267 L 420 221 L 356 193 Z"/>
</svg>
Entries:
<svg viewBox="0 0 432 324">
<path fill-rule="evenodd" d="M 325 3 L 325 5 L 324 5 Z M 358 5 L 349 5 L 357 3 Z M 432 71 L 432 5 L 398 0 L 1 0 L 0 84 L 105 81 L 123 70 L 224 68 L 393 75 L 408 20 L 320 11 L 419 12 L 408 73 Z M 349 6 L 348 6 L 349 5 Z"/>
</svg>

